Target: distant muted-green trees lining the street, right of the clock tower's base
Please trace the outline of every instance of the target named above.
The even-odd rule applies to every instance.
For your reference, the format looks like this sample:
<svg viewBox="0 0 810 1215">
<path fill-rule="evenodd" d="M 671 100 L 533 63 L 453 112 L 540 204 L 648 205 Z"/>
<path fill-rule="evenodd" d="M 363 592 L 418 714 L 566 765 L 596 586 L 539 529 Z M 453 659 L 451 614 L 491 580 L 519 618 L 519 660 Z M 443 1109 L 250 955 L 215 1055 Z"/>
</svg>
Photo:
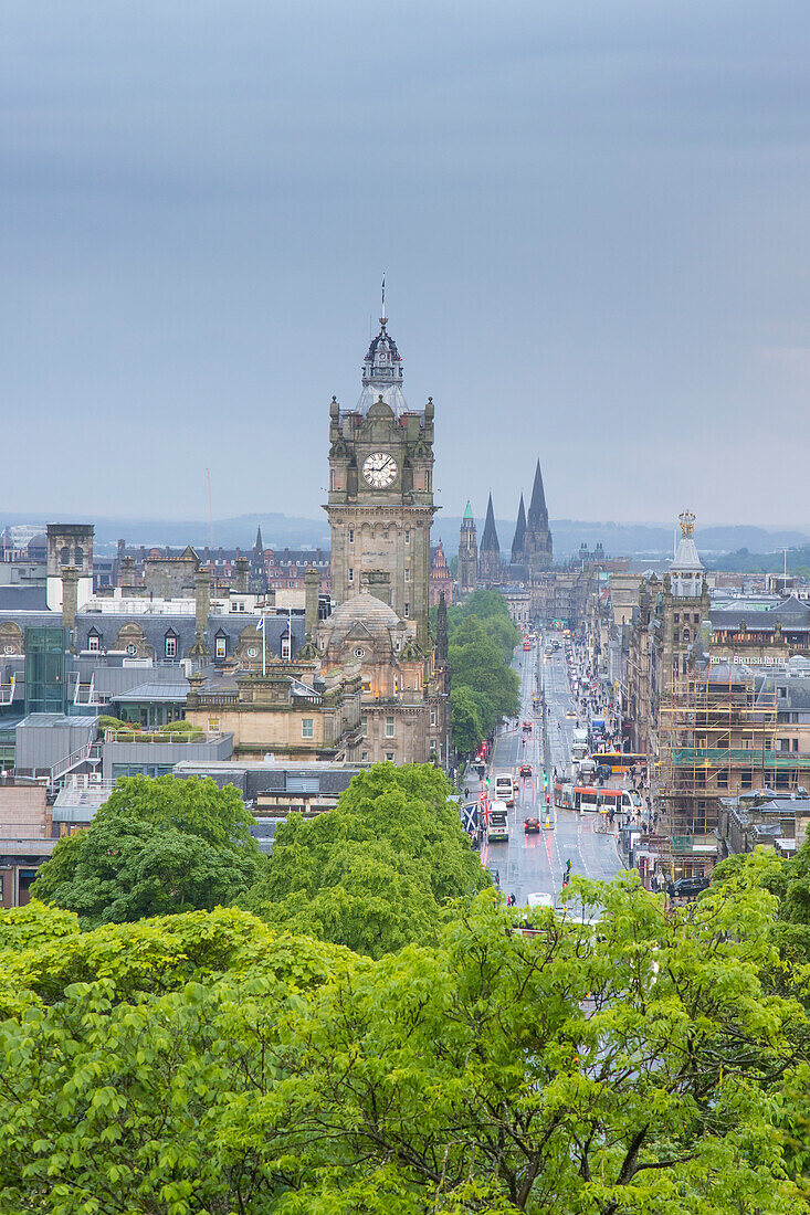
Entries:
<svg viewBox="0 0 810 1215">
<path fill-rule="evenodd" d="M 450 722 L 456 751 L 471 752 L 502 717 L 519 708 L 519 682 L 511 668 L 521 632 L 497 590 L 477 590 L 448 611 Z"/>
</svg>

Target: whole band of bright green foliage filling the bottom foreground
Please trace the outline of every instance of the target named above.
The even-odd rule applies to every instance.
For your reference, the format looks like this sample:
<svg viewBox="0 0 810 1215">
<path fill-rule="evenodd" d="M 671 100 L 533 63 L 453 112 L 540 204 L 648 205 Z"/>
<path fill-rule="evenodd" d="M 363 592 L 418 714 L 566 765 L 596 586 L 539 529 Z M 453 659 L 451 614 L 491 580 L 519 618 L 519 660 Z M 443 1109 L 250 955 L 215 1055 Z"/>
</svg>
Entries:
<svg viewBox="0 0 810 1215">
<path fill-rule="evenodd" d="M 798 1215 L 808 957 L 766 868 L 671 915 L 576 878 L 598 933 L 485 892 L 376 961 L 236 909 L 0 915 L 5 1209 Z"/>
</svg>

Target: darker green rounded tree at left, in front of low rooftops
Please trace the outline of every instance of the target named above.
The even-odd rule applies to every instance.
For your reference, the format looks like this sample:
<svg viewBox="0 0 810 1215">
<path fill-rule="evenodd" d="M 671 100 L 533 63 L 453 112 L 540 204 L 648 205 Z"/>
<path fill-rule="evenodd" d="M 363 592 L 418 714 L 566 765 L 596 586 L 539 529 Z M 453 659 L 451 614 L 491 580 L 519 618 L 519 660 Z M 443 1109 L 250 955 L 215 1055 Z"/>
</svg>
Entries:
<svg viewBox="0 0 810 1215">
<path fill-rule="evenodd" d="M 60 841 L 32 892 L 85 928 L 231 904 L 266 866 L 252 823 L 234 786 L 123 778 L 88 830 Z"/>
</svg>

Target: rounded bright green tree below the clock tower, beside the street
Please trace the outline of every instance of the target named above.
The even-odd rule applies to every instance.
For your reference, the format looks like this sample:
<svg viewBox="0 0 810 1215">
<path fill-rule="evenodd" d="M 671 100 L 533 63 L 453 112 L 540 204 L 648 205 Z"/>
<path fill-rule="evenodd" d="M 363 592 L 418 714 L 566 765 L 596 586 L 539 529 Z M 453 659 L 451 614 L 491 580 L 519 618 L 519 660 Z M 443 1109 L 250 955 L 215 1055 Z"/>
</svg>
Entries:
<svg viewBox="0 0 810 1215">
<path fill-rule="evenodd" d="M 287 819 L 240 905 L 371 957 L 434 940 L 446 904 L 489 885 L 449 793 L 428 764 L 376 764 L 328 814 Z"/>
</svg>

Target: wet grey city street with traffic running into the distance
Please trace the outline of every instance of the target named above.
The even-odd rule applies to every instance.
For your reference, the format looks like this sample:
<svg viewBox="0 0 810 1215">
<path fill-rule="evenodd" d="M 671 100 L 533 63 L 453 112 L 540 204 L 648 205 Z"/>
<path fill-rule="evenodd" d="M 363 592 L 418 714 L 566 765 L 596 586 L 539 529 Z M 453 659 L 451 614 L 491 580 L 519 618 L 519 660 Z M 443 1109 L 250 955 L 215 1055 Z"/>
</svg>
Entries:
<svg viewBox="0 0 810 1215">
<path fill-rule="evenodd" d="M 576 724 L 574 718 L 566 717 L 573 701 L 562 635 L 546 634 L 544 642 L 553 639 L 561 643 L 561 649 L 551 657 L 544 656 L 542 643 L 533 645 L 530 651 L 518 650 L 514 667 L 521 676 L 521 716 L 517 723 L 511 722 L 499 730 L 488 769 L 494 787 L 495 774 L 517 776 L 521 763 L 531 764 L 533 776 L 519 780 L 519 793 L 514 808 L 510 810 L 508 843 L 484 843 L 482 848 L 483 863 L 493 871 L 497 870 L 501 889 L 505 894 L 514 894 L 518 904 L 525 904 L 529 894 L 557 895 L 562 889 L 567 860 L 570 860 L 572 875 L 584 874 L 586 877 L 611 878 L 621 869 L 615 833 L 597 830 L 604 820 L 596 814 L 561 810 L 552 804 L 550 826 L 545 826 L 544 761 L 549 761 L 549 789 L 553 803 L 553 767 L 558 772 L 567 769 L 572 730 Z M 531 694 L 538 688 L 545 691 L 547 738 L 539 708 L 535 717 L 531 703 Z M 527 735 L 522 728 L 524 720 L 533 723 L 531 733 Z M 471 795 L 479 787 L 477 781 L 468 781 L 468 785 Z M 527 816 L 540 819 L 539 835 L 524 835 L 523 820 Z"/>
</svg>

